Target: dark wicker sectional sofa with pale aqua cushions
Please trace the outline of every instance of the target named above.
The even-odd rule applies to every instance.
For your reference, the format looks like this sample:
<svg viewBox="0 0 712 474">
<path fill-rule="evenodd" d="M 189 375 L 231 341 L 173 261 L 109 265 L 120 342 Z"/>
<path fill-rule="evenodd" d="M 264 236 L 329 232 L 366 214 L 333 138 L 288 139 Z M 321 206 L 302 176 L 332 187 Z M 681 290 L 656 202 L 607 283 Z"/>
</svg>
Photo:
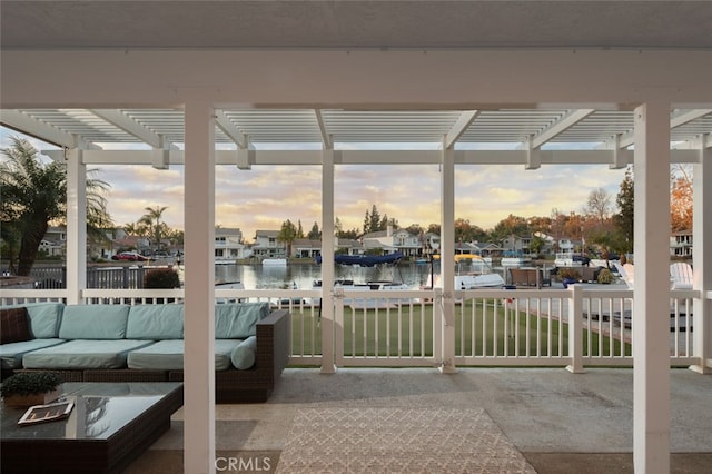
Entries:
<svg viewBox="0 0 712 474">
<path fill-rule="evenodd" d="M 181 304 L 2 308 L 2 376 L 51 371 L 66 382 L 182 381 L 184 317 Z M 216 402 L 265 402 L 289 361 L 289 335 L 287 310 L 216 304 Z"/>
</svg>

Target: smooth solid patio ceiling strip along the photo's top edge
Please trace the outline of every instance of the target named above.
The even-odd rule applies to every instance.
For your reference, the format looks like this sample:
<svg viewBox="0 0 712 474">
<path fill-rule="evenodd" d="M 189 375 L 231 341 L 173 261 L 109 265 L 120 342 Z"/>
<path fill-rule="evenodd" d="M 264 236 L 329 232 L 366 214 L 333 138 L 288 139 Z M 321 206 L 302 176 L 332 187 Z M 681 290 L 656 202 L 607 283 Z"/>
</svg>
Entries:
<svg viewBox="0 0 712 474">
<path fill-rule="evenodd" d="M 0 2 L 2 48 L 712 48 L 710 1 Z"/>
</svg>

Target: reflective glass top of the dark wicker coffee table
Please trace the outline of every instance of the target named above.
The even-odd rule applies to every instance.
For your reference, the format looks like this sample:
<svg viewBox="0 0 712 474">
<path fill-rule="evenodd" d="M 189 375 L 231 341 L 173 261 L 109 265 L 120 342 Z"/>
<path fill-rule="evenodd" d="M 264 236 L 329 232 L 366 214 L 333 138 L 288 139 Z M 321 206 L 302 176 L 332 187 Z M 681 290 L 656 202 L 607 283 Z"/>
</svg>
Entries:
<svg viewBox="0 0 712 474">
<path fill-rule="evenodd" d="M 56 402 L 75 404 L 68 417 L 19 426 L 27 408 L 0 406 L 3 440 L 107 440 L 161 398 L 181 388 L 180 382 L 65 383 Z"/>
</svg>

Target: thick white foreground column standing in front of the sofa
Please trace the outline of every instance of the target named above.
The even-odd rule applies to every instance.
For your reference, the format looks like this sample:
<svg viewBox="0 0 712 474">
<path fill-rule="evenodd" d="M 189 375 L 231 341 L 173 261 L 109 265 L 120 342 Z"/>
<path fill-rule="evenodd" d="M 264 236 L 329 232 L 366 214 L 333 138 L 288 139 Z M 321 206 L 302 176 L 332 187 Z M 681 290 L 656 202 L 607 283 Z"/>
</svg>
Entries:
<svg viewBox="0 0 712 474">
<path fill-rule="evenodd" d="M 184 472 L 215 472 L 215 119 L 210 103 L 185 109 Z"/>
</svg>

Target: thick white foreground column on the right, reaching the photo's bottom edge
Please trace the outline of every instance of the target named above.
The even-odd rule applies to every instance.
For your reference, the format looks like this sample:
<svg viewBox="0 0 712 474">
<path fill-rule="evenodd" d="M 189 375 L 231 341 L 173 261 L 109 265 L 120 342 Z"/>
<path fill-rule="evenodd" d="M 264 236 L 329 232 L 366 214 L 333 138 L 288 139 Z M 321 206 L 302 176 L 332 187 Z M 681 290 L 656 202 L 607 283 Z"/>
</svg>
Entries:
<svg viewBox="0 0 712 474">
<path fill-rule="evenodd" d="M 670 471 L 670 105 L 635 109 L 633 462 Z"/>
</svg>

